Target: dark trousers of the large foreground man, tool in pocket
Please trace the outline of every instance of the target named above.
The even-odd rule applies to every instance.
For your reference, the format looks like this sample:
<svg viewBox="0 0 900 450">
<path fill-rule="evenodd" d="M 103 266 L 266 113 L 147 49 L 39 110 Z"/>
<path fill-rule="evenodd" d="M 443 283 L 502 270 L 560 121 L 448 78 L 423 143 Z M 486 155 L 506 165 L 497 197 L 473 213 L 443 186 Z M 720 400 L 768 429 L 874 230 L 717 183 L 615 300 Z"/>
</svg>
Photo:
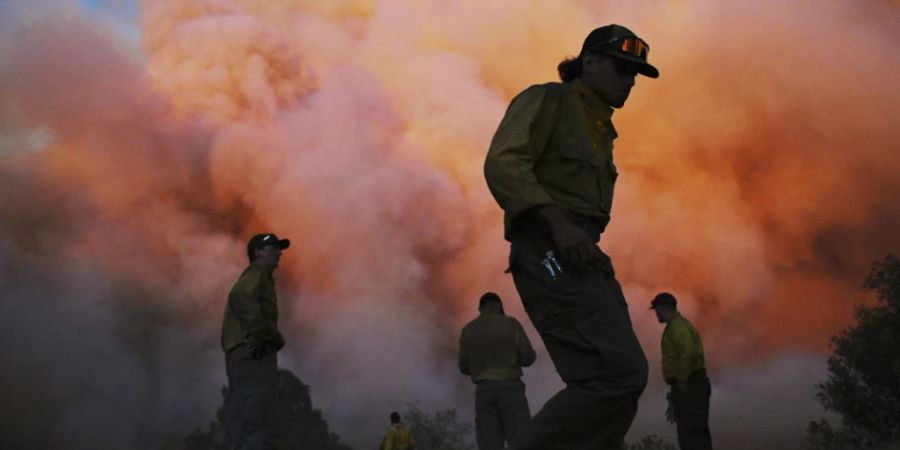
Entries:
<svg viewBox="0 0 900 450">
<path fill-rule="evenodd" d="M 525 310 L 566 388 L 534 416 L 515 450 L 619 450 L 647 385 L 647 358 L 634 334 L 612 264 L 554 278 L 542 260 L 549 235 L 513 239 L 510 269 Z"/>
</svg>

